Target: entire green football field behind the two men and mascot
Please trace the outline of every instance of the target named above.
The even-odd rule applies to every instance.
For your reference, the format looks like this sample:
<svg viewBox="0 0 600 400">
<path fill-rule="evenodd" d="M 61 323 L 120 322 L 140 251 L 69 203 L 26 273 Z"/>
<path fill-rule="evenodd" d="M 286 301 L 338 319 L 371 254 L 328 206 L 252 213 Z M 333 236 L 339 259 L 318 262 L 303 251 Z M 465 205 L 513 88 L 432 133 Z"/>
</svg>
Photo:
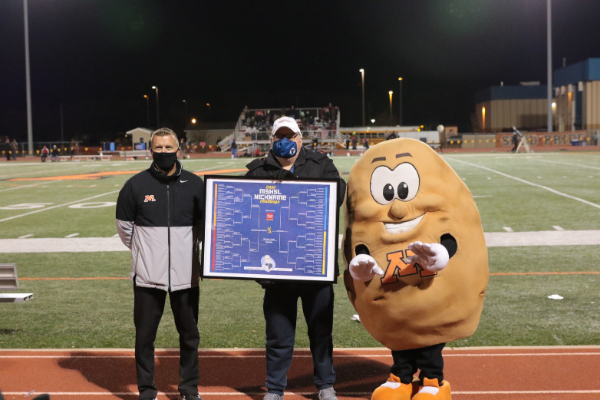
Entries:
<svg viewBox="0 0 600 400">
<path fill-rule="evenodd" d="M 444 158 L 474 195 L 486 233 L 600 230 L 598 153 Z M 334 157 L 345 178 L 356 160 Z M 184 167 L 194 172 L 236 170 L 247 162 L 193 159 Z M 2 239 L 114 236 L 118 191 L 131 174 L 148 165 L 149 161 L 0 163 L 0 262 L 16 263 L 19 291 L 35 295 L 26 303 L 0 303 L 0 348 L 133 347 L 128 280 L 26 279 L 124 278 L 130 269 L 128 252 L 11 253 Z M 101 178 L 64 179 L 84 174 Z M 600 345 L 600 246 L 488 250 L 492 275 L 479 328 L 451 346 Z M 201 347 L 264 346 L 259 285 L 205 280 L 200 287 Z M 335 290 L 334 345 L 379 346 L 350 319 L 354 309 L 341 281 Z M 549 299 L 552 294 L 563 298 Z M 300 310 L 299 305 L 296 344 L 308 347 Z M 178 347 L 168 305 L 156 346 Z"/>
</svg>

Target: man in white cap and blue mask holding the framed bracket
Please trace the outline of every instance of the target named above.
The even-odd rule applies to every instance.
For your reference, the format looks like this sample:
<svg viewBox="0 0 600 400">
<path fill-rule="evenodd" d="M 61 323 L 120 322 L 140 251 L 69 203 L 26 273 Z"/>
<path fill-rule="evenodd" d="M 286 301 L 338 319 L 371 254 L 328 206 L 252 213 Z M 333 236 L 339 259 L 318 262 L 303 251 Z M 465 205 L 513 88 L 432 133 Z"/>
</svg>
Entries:
<svg viewBox="0 0 600 400">
<path fill-rule="evenodd" d="M 271 151 L 247 165 L 246 176 L 273 178 L 338 179 L 338 207 L 344 201 L 346 183 L 324 154 L 302 147 L 302 133 L 293 118 L 282 117 L 273 124 Z M 336 266 L 336 276 L 339 275 Z M 337 400 L 333 384 L 333 284 L 320 282 L 259 282 L 265 289 L 263 311 L 266 321 L 268 393 L 264 400 L 281 400 L 292 362 L 298 298 L 302 309 L 314 365 L 314 382 L 320 400 Z"/>
</svg>

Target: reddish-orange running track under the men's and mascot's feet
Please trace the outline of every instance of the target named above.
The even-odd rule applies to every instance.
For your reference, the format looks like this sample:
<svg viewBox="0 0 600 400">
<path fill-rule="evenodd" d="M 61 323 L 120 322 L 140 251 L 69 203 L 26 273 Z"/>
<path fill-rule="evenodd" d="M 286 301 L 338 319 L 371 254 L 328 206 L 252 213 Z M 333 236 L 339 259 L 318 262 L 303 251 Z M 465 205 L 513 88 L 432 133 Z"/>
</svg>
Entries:
<svg viewBox="0 0 600 400">
<path fill-rule="evenodd" d="M 159 398 L 177 398 L 178 352 L 157 351 Z M 492 347 L 444 350 L 445 378 L 454 399 L 591 400 L 600 398 L 599 346 Z M 336 349 L 340 398 L 369 399 L 389 375 L 387 349 Z M 200 394 L 205 400 L 261 399 L 264 351 L 200 352 Z M 7 400 L 50 393 L 52 399 L 137 398 L 132 350 L 0 350 L 0 388 Z M 297 350 L 286 400 L 315 398 L 312 362 Z"/>
</svg>

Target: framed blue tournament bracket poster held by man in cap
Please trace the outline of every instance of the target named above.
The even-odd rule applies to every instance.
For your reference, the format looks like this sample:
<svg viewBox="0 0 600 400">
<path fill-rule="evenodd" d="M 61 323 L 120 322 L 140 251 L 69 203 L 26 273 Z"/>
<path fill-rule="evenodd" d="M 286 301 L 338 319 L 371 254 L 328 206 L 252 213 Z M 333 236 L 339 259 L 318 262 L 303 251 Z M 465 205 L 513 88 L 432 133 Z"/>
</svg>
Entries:
<svg viewBox="0 0 600 400">
<path fill-rule="evenodd" d="M 205 176 L 205 278 L 335 280 L 335 180 Z"/>
</svg>

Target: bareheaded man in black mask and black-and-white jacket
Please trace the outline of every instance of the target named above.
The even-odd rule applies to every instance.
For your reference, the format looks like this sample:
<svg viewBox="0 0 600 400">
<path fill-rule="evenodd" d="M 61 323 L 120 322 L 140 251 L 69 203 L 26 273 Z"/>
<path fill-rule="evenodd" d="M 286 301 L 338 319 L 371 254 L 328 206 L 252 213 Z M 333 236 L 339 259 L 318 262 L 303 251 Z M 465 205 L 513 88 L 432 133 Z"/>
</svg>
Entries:
<svg viewBox="0 0 600 400">
<path fill-rule="evenodd" d="M 150 139 L 154 162 L 129 179 L 117 201 L 117 230 L 131 249 L 135 362 L 140 400 L 156 399 L 154 339 L 167 293 L 179 333 L 179 400 L 198 395 L 199 242 L 204 184 L 177 160 L 177 135 L 161 128 Z"/>
</svg>

